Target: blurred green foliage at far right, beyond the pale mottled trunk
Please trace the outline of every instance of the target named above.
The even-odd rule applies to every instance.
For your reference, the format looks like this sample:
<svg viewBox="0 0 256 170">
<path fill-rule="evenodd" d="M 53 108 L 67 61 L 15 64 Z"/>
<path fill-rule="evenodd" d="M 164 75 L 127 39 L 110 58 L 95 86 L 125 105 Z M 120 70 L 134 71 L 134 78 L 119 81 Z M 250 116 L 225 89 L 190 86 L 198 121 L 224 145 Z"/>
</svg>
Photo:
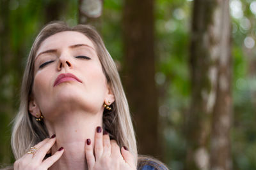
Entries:
<svg viewBox="0 0 256 170">
<path fill-rule="evenodd" d="M 241 3 L 243 15 L 236 15 L 231 9 L 234 60 L 232 155 L 234 169 L 255 169 L 255 46 L 246 46 L 246 37 L 255 41 L 255 15 L 250 10 L 253 1 L 231 1 L 234 2 Z"/>
</svg>

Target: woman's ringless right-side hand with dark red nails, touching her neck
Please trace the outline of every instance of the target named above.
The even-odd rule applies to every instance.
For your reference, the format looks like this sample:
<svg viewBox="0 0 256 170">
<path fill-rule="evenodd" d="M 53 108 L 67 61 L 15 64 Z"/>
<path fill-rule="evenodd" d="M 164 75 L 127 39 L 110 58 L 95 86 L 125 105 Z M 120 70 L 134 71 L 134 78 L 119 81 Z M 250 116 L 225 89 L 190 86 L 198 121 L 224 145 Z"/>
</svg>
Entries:
<svg viewBox="0 0 256 170">
<path fill-rule="evenodd" d="M 110 140 L 107 132 L 102 134 L 102 128 L 97 127 L 95 133 L 95 156 L 90 139 L 86 140 L 85 154 L 89 170 L 100 169 L 136 169 L 133 155 L 125 146 L 120 148 L 115 140 Z"/>
</svg>

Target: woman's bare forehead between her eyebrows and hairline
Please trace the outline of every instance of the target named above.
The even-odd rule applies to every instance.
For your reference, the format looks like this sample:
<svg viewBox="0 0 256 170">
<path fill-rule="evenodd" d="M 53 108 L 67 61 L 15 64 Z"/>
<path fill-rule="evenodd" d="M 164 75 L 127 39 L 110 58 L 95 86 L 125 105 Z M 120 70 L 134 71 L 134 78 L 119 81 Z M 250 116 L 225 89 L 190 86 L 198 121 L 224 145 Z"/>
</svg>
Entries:
<svg viewBox="0 0 256 170">
<path fill-rule="evenodd" d="M 51 50 L 51 49 L 62 49 L 67 48 L 71 45 L 77 45 L 77 44 L 85 44 L 92 46 L 93 49 L 95 49 L 92 41 L 86 37 L 81 32 L 77 31 L 63 31 L 58 32 L 56 34 L 53 34 L 52 36 L 49 36 L 46 38 L 38 48 L 36 55 L 38 53 L 43 52 L 45 50 Z"/>
</svg>

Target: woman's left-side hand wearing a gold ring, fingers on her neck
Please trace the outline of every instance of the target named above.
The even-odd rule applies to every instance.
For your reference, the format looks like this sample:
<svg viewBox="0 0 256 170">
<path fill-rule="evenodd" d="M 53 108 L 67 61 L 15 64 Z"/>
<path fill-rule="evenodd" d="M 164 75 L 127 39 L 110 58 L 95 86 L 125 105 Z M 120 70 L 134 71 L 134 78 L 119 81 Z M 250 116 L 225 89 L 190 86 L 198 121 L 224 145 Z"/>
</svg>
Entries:
<svg viewBox="0 0 256 170">
<path fill-rule="evenodd" d="M 61 147 L 54 155 L 48 157 L 44 160 L 46 153 L 51 149 L 52 145 L 56 142 L 55 135 L 52 135 L 51 138 L 46 138 L 37 145 L 35 148 L 38 148 L 35 153 L 26 153 L 23 157 L 16 160 L 13 165 L 14 170 L 45 170 L 54 164 L 58 159 L 60 159 L 64 150 Z"/>
</svg>

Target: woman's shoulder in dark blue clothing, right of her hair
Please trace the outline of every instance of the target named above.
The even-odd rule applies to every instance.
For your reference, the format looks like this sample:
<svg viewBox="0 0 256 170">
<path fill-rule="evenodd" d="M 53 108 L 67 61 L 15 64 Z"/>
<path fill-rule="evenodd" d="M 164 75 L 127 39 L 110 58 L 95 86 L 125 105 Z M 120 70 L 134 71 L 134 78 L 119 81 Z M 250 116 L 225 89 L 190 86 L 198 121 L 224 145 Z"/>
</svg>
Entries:
<svg viewBox="0 0 256 170">
<path fill-rule="evenodd" d="M 168 167 L 163 162 L 148 157 L 145 155 L 138 156 L 138 168 L 139 170 L 168 170 Z"/>
</svg>

